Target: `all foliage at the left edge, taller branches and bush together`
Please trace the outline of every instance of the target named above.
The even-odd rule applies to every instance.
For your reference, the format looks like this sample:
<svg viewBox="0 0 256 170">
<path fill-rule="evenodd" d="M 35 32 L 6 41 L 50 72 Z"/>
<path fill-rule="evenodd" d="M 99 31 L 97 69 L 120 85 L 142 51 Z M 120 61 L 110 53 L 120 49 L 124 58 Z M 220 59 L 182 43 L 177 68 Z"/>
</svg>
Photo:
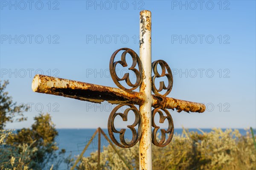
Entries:
<svg viewBox="0 0 256 170">
<path fill-rule="evenodd" d="M 0 82 L 1 83 L 1 82 Z M 23 128 L 13 132 L 4 130 L 6 123 L 26 120 L 22 111 L 27 107 L 17 106 L 8 96 L 5 88 L 8 82 L 0 84 L 0 169 L 28 170 L 28 169 L 58 169 L 64 158 L 65 150 L 55 151 L 55 138 L 58 132 L 51 121 L 50 115 L 40 113 L 35 116 L 31 128 Z M 25 108 L 26 107 L 26 108 Z"/>
</svg>

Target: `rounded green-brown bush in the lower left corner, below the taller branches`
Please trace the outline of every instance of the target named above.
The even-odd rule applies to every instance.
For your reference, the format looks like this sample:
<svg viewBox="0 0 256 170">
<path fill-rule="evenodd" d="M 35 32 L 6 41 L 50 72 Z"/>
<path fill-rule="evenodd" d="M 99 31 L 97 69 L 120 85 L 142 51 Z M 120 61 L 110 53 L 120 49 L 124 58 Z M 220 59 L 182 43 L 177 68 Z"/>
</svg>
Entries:
<svg viewBox="0 0 256 170">
<path fill-rule="evenodd" d="M 64 161 L 65 150 L 55 152 L 58 132 L 49 114 L 36 116 L 31 129 L 0 130 L 0 135 L 0 169 L 57 169 Z"/>
</svg>

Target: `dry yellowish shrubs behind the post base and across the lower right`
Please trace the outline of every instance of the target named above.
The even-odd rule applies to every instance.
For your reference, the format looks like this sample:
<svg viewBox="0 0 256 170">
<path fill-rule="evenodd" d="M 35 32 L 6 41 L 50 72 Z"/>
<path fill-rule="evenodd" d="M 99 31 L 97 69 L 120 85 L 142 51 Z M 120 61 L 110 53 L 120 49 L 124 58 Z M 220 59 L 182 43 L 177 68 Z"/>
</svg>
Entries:
<svg viewBox="0 0 256 170">
<path fill-rule="evenodd" d="M 119 148 L 119 152 L 134 169 L 139 169 L 138 144 Z M 154 170 L 255 170 L 256 149 L 253 138 L 247 130 L 241 136 L 238 130 L 212 129 L 202 134 L 183 129 L 175 134 L 166 147 L 153 146 Z M 97 169 L 97 152 L 82 158 L 78 170 Z M 109 145 L 104 147 L 100 160 L 101 169 L 127 169 L 125 164 Z"/>
</svg>

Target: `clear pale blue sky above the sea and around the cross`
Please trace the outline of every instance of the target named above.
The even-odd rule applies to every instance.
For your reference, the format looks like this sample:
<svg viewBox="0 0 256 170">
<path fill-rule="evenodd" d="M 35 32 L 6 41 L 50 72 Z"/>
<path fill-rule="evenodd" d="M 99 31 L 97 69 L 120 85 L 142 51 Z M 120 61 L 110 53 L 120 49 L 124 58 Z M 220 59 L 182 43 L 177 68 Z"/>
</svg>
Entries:
<svg viewBox="0 0 256 170">
<path fill-rule="evenodd" d="M 9 79 L 14 101 L 32 106 L 25 113 L 28 121 L 7 128 L 29 127 L 40 111 L 49 112 L 57 128 L 107 127 L 111 105 L 38 94 L 32 79 L 43 72 L 116 87 L 109 59 L 122 47 L 139 54 L 143 9 L 152 13 L 152 61 L 165 60 L 173 72 L 168 96 L 207 104 L 204 113 L 170 111 L 175 127 L 256 127 L 255 0 L 1 0 L 0 5 L 0 79 Z"/>
</svg>

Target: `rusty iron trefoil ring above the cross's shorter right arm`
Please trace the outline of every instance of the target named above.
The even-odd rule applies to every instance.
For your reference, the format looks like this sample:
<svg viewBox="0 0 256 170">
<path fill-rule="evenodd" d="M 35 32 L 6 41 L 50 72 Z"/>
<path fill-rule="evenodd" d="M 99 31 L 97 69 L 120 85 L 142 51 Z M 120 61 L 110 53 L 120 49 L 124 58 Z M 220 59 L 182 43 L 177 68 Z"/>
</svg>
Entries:
<svg viewBox="0 0 256 170">
<path fill-rule="evenodd" d="M 162 68 L 161 74 L 159 74 L 157 71 L 157 64 L 159 64 Z M 160 94 L 159 92 L 164 89 L 167 91 L 165 94 L 163 94 L 163 96 L 167 96 L 172 91 L 172 85 L 173 85 L 172 71 L 169 68 L 169 65 L 165 61 L 160 59 L 160 60 L 152 62 L 152 69 L 154 72 L 154 76 L 152 76 L 152 91 L 154 92 L 154 94 L 162 96 L 162 94 Z M 167 74 L 166 74 L 166 70 L 167 70 Z M 165 77 L 165 76 L 168 78 L 168 86 L 166 87 L 166 85 L 162 81 L 162 82 L 160 82 L 159 89 L 157 89 L 155 86 L 155 78 Z"/>
</svg>

